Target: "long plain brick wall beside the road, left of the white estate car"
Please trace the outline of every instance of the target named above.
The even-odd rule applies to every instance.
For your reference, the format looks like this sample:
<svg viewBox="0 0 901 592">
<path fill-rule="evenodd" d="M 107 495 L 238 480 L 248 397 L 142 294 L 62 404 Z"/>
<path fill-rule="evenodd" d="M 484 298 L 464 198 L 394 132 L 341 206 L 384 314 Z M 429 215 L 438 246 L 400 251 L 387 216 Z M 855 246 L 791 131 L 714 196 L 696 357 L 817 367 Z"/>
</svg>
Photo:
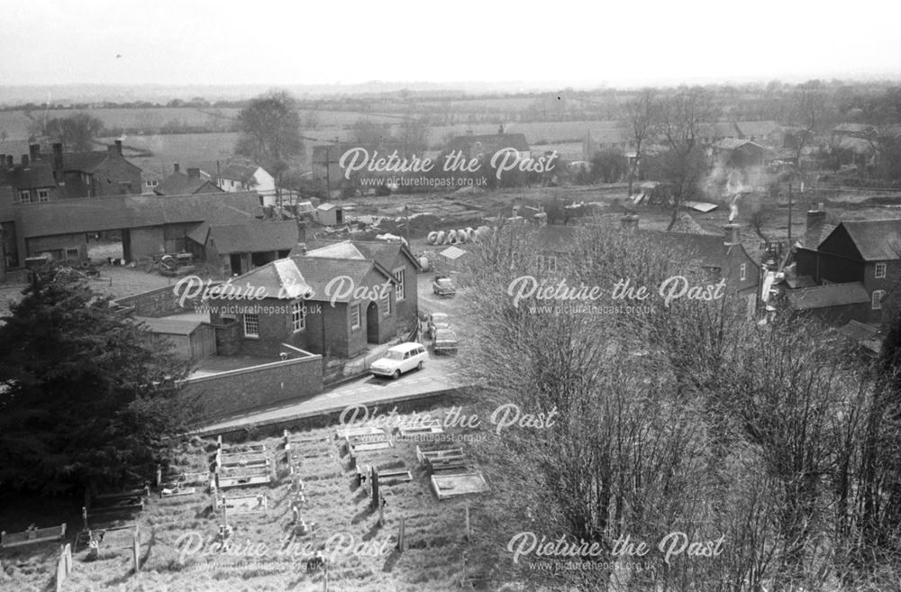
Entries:
<svg viewBox="0 0 901 592">
<path fill-rule="evenodd" d="M 323 360 L 307 356 L 189 378 L 182 396 L 196 401 L 204 420 L 323 392 Z"/>
</svg>

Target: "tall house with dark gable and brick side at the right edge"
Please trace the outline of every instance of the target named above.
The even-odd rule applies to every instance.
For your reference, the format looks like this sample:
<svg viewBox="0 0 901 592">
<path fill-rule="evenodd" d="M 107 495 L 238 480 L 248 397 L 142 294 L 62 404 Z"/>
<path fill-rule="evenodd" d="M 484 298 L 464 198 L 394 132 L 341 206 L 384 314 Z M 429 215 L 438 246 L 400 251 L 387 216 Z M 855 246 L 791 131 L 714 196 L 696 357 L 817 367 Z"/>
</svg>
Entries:
<svg viewBox="0 0 901 592">
<path fill-rule="evenodd" d="M 887 296 L 901 278 L 901 219 L 839 223 L 816 246 L 796 248 L 795 259 L 796 275 L 812 278 L 825 291 L 837 289 L 835 285 L 859 285 L 853 293 L 858 299 L 866 296 L 869 306 L 857 311 L 854 320 L 881 323 Z"/>
</svg>

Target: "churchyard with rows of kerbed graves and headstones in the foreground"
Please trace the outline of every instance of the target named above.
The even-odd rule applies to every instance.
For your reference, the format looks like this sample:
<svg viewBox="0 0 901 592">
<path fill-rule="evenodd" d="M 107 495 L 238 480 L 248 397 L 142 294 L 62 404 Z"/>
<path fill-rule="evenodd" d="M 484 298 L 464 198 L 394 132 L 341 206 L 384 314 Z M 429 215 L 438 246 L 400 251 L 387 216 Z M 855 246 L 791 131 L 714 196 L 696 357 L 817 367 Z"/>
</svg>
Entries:
<svg viewBox="0 0 901 592">
<path fill-rule="evenodd" d="M 0 587 L 471 588 L 489 569 L 474 533 L 493 502 L 478 444 L 454 432 L 334 424 L 186 440 L 145 484 L 86 494 L 78 524 L 5 533 Z"/>
</svg>

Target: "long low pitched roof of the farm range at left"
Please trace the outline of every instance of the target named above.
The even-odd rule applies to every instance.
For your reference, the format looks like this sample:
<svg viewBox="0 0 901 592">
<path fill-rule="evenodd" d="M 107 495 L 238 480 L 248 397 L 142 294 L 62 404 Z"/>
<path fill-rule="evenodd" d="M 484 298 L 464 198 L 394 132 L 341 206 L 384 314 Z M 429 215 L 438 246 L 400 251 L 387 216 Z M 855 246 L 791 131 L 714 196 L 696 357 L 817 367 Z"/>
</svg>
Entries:
<svg viewBox="0 0 901 592">
<path fill-rule="evenodd" d="M 26 238 L 141 228 L 172 223 L 245 223 L 262 216 L 256 191 L 195 196 L 108 196 L 0 208 Z"/>
</svg>

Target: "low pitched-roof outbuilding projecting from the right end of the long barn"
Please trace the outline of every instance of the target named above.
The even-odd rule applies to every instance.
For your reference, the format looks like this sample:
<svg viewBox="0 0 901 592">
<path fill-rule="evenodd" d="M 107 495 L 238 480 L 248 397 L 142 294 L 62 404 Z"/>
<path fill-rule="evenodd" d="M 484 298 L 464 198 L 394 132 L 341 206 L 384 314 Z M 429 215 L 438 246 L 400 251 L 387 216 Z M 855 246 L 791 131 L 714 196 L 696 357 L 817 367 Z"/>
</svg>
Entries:
<svg viewBox="0 0 901 592">
<path fill-rule="evenodd" d="M 202 223 L 187 233 L 187 239 L 189 252 L 228 278 L 286 258 L 297 244 L 299 231 L 293 220 Z"/>
</svg>

